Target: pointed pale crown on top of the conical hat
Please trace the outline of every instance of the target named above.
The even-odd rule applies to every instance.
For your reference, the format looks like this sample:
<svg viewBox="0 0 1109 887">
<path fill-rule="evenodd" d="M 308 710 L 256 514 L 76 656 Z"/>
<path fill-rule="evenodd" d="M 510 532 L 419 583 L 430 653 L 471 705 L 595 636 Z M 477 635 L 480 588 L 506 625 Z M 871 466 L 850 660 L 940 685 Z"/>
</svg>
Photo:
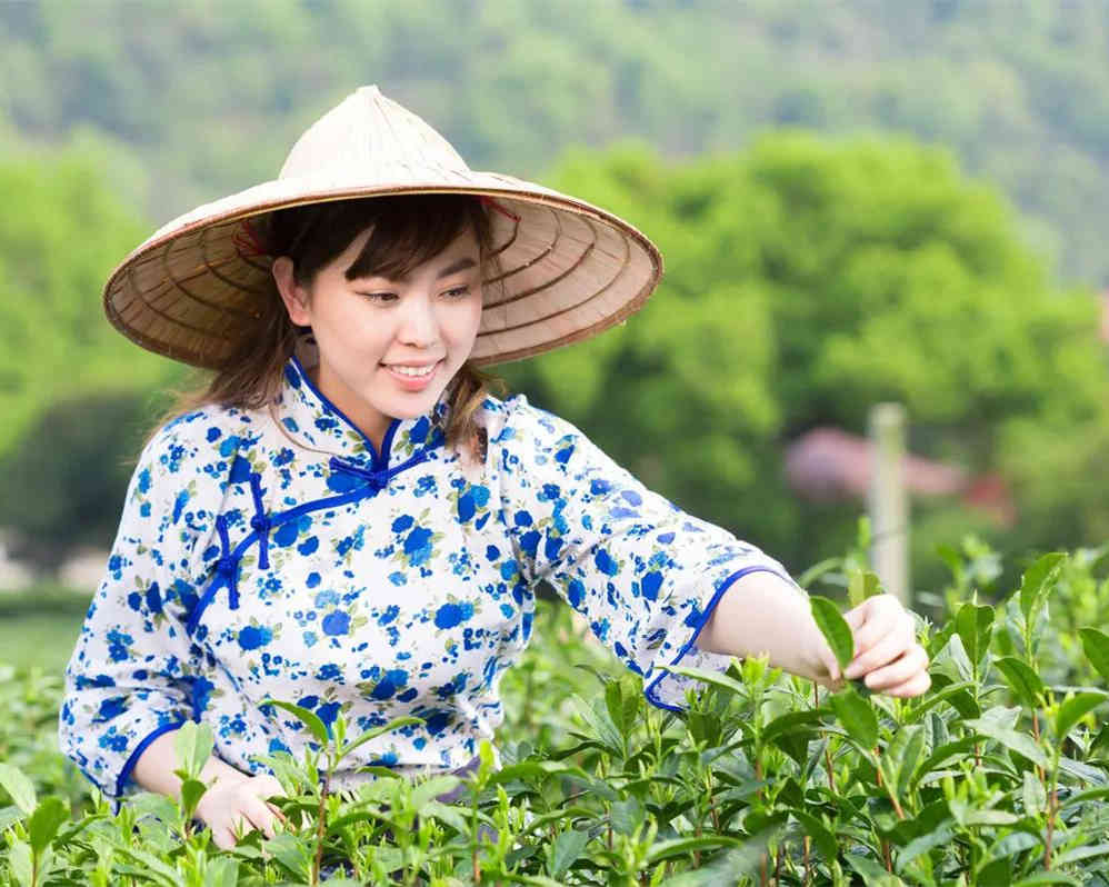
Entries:
<svg viewBox="0 0 1109 887">
<path fill-rule="evenodd" d="M 362 180 L 420 180 L 438 172 L 469 172 L 450 142 L 421 118 L 362 87 L 297 140 L 279 179 L 341 170 Z"/>
</svg>

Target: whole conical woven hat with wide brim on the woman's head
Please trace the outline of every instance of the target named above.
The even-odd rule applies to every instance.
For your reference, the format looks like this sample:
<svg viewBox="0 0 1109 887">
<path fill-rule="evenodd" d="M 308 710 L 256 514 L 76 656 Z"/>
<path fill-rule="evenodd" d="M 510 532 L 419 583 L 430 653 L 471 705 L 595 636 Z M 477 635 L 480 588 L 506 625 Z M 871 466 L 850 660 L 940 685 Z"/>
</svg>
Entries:
<svg viewBox="0 0 1109 887">
<path fill-rule="evenodd" d="M 642 307 L 658 249 L 622 219 L 540 185 L 476 172 L 423 120 L 363 87 L 293 146 L 279 177 L 163 226 L 104 286 L 104 310 L 151 351 L 219 368 L 256 335 L 270 265 L 251 217 L 348 198 L 488 198 L 500 272 L 486 281 L 471 360 L 498 363 L 587 339 Z"/>
</svg>

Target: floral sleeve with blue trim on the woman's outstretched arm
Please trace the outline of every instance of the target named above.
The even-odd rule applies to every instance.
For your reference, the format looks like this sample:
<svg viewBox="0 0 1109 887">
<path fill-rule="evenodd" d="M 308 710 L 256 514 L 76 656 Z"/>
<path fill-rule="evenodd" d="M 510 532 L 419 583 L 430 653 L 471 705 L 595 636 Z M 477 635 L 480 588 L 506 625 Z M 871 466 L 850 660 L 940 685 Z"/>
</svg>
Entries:
<svg viewBox="0 0 1109 887">
<path fill-rule="evenodd" d="M 696 641 L 737 580 L 767 571 L 783 595 L 805 594 L 777 560 L 647 489 L 569 422 L 522 396 L 503 410 L 492 451 L 524 578 L 582 614 L 653 705 L 685 707 L 689 681 L 662 666 L 728 667 Z"/>
</svg>

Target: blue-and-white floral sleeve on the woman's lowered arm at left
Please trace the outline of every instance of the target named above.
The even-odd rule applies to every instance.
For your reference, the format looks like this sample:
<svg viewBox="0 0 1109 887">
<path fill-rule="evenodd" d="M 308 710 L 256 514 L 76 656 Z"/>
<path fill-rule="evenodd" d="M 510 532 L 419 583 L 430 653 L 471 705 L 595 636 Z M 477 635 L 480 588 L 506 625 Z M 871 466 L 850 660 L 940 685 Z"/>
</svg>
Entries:
<svg viewBox="0 0 1109 887">
<path fill-rule="evenodd" d="M 179 422 L 182 420 L 179 420 Z M 112 798 L 154 738 L 192 718 L 182 611 L 196 602 L 189 560 L 207 512 L 190 448 L 168 426 L 131 477 L 107 571 L 66 669 L 59 746 Z"/>
</svg>

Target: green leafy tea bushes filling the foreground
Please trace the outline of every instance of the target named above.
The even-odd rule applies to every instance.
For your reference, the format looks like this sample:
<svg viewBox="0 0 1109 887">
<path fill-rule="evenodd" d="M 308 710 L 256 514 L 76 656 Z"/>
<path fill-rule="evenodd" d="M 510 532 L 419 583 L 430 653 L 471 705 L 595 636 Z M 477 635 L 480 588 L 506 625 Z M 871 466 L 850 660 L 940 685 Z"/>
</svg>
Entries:
<svg viewBox="0 0 1109 887">
<path fill-rule="evenodd" d="M 727 675 L 676 668 L 702 679 L 679 716 L 543 605 L 504 679 L 500 769 L 486 746 L 464 781 L 377 769 L 339 796 L 327 773 L 359 738 L 284 705 L 318 751 L 269 759 L 288 823 L 231 851 L 191 820 L 207 728 L 178 734 L 180 804 L 143 794 L 113 816 L 56 750 L 59 679 L 9 670 L 0 884 L 1109 884 L 1105 551 L 1030 560 L 1005 594 L 981 544 L 945 557 L 952 580 L 928 599 L 936 625 L 920 625 L 923 697 L 830 692 L 749 659 Z M 876 579 L 857 556 L 803 578 L 849 655 L 839 606 L 816 592 L 858 601 Z"/>
</svg>

